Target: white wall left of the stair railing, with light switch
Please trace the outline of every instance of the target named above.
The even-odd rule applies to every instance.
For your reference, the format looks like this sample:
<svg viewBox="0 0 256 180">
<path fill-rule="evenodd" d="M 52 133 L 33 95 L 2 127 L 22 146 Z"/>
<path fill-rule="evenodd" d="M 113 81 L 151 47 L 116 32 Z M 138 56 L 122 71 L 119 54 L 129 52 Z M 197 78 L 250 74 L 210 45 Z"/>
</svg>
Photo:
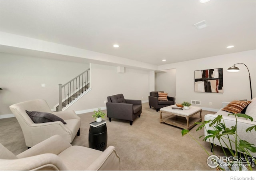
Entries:
<svg viewBox="0 0 256 180">
<path fill-rule="evenodd" d="M 53 108 L 58 103 L 58 84 L 88 68 L 84 63 L 0 53 L 0 116 L 12 113 L 10 105 L 32 99 L 45 99 Z"/>
</svg>

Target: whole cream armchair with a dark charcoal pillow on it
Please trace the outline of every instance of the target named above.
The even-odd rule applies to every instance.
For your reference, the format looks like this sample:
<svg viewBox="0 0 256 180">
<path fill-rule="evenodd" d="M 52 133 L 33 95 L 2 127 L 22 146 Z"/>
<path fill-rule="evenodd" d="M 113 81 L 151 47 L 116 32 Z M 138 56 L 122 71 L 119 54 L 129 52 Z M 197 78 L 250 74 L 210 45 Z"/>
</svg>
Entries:
<svg viewBox="0 0 256 180">
<path fill-rule="evenodd" d="M 76 135 L 80 135 L 80 117 L 73 110 L 52 112 L 47 102 L 42 99 L 13 104 L 10 106 L 10 110 L 21 126 L 28 147 L 32 147 L 55 134 L 62 136 L 70 143 Z M 26 110 L 55 114 L 62 118 L 66 124 L 61 121 L 34 123 Z"/>
</svg>

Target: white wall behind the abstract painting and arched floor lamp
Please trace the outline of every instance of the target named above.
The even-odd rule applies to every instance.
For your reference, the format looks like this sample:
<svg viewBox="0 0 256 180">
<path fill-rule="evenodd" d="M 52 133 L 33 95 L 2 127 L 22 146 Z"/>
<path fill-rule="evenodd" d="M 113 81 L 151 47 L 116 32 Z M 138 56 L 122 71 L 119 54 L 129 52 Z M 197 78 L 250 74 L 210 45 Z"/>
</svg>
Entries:
<svg viewBox="0 0 256 180">
<path fill-rule="evenodd" d="M 256 50 L 212 56 L 198 60 L 159 66 L 159 70 L 176 68 L 176 102 L 200 100 L 204 109 L 219 109 L 223 101 L 250 100 L 249 74 L 246 66 L 236 65 L 240 72 L 227 72 L 236 63 L 250 70 L 252 95 L 256 97 Z M 223 93 L 194 92 L 194 71 L 223 68 Z M 209 105 L 212 102 L 212 105 Z"/>
</svg>

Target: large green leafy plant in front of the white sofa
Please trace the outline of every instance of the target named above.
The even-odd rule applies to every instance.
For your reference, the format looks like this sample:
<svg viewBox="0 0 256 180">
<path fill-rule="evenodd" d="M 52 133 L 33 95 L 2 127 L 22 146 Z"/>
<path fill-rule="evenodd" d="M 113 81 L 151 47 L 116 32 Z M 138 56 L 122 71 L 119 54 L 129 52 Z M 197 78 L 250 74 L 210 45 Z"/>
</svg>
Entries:
<svg viewBox="0 0 256 180">
<path fill-rule="evenodd" d="M 249 160 L 250 160 L 250 157 L 252 157 L 251 152 L 256 152 L 256 147 L 254 146 L 254 144 L 251 144 L 246 140 L 242 140 L 237 134 L 237 118 L 243 117 L 243 118 L 246 118 L 246 120 L 249 119 L 251 121 L 253 121 L 253 118 L 246 114 L 228 114 L 228 116 L 230 115 L 235 116 L 236 118 L 235 126 L 226 127 L 226 124 L 223 120 L 222 115 L 218 115 L 214 120 L 196 122 L 196 124 L 200 125 L 196 129 L 196 131 L 201 130 L 202 128 L 206 128 L 206 126 L 211 127 L 211 129 L 207 130 L 207 134 L 208 134 L 207 136 L 200 136 L 199 138 L 204 137 L 203 141 L 206 141 L 207 139 L 209 140 L 213 155 L 215 155 L 215 153 L 214 153 L 212 144 L 216 146 L 213 140 L 217 139 L 218 142 L 220 142 L 220 146 L 225 156 L 228 156 L 228 152 L 233 157 L 241 156 L 243 154 L 245 156 L 244 158 L 246 160 L 246 163 L 247 163 L 246 165 L 248 169 L 252 170 Z M 256 125 L 247 128 L 246 132 L 248 131 L 251 132 L 252 130 L 256 131 Z M 202 144 L 200 144 L 200 142 L 198 142 L 196 138 L 194 138 L 191 134 L 189 134 L 189 130 L 186 130 L 186 129 L 182 130 L 182 136 L 184 136 L 185 134 L 188 134 L 191 138 L 193 138 L 203 148 L 203 150 L 210 156 L 210 153 L 204 148 L 204 146 L 202 146 Z M 224 168 L 220 166 L 219 168 L 224 170 Z M 229 166 L 228 169 L 232 170 L 232 167 Z M 241 166 L 239 170 L 241 170 Z"/>
</svg>

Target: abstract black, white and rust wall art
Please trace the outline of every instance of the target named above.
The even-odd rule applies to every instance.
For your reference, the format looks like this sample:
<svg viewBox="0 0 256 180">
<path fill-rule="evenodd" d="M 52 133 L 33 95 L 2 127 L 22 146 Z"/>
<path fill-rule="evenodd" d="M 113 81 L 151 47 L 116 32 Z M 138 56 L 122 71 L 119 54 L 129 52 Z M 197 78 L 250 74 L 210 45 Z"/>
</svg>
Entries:
<svg viewBox="0 0 256 180">
<path fill-rule="evenodd" d="M 195 92 L 223 93 L 223 69 L 195 71 Z"/>
</svg>

